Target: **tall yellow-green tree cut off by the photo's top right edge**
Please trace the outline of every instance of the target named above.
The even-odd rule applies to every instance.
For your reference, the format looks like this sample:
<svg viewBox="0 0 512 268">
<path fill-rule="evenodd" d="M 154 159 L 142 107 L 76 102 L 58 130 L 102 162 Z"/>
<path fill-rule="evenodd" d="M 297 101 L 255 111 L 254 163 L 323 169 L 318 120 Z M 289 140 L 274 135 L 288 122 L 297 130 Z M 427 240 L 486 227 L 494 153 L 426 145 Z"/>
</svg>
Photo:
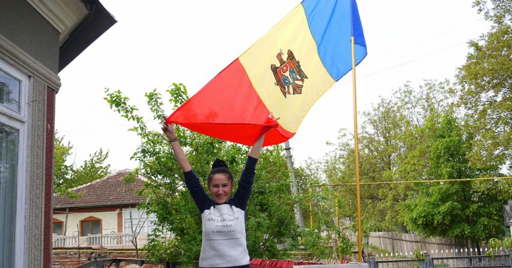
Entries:
<svg viewBox="0 0 512 268">
<path fill-rule="evenodd" d="M 493 24 L 479 40 L 469 42 L 471 52 L 457 79 L 461 105 L 468 111 L 466 128 L 475 134 L 471 163 L 494 168 L 512 159 L 512 3 L 492 0 L 491 9 L 488 4 L 474 1 Z"/>
</svg>

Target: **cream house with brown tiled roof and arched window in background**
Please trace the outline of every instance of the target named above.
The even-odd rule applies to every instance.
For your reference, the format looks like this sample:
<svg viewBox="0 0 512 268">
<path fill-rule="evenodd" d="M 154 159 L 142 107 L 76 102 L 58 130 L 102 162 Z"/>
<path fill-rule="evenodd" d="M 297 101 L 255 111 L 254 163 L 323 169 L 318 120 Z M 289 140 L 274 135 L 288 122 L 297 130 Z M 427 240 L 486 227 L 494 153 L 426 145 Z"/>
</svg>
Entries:
<svg viewBox="0 0 512 268">
<path fill-rule="evenodd" d="M 134 248 L 141 247 L 151 233 L 154 215 L 139 211 L 148 201 L 136 193 L 146 178 L 138 176 L 127 183 L 130 170 L 124 169 L 103 179 L 78 186 L 71 191 L 78 199 L 53 196 L 53 247 Z"/>
</svg>

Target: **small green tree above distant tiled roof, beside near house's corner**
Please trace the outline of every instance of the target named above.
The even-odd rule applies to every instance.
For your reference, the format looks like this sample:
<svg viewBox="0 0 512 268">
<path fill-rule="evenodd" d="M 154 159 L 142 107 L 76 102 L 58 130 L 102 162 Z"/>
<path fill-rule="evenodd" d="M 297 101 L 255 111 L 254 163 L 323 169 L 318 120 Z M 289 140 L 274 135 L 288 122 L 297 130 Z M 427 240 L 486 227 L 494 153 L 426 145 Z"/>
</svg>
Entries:
<svg viewBox="0 0 512 268">
<path fill-rule="evenodd" d="M 108 152 L 103 152 L 100 148 L 99 151 L 89 155 L 89 160 L 85 160 L 80 167 L 75 167 L 74 164 L 69 164 L 70 160 L 68 158 L 72 155 L 73 145 L 69 141 L 65 144 L 63 140 L 64 137 L 58 137 L 58 132 L 55 131 L 53 192 L 55 194 L 68 195 L 68 197 L 75 199 L 78 196 L 73 191 L 69 191 L 70 189 L 94 182 L 110 174 L 110 164 L 105 164 Z"/>
</svg>

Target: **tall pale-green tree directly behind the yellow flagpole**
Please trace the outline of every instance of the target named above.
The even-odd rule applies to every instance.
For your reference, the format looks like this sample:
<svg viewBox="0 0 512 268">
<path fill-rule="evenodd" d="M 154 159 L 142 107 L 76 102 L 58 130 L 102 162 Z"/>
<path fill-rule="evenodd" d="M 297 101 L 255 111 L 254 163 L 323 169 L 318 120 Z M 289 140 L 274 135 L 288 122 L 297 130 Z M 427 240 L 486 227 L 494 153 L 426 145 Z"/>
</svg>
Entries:
<svg viewBox="0 0 512 268">
<path fill-rule="evenodd" d="M 427 116 L 449 106 L 449 82 L 425 81 L 419 90 L 409 84 L 396 90 L 390 98 L 380 98 L 378 104 L 361 117 L 359 147 L 360 182 L 382 183 L 361 185 L 361 225 L 363 233 L 370 231 L 407 231 L 396 205 L 416 193 L 409 182 L 425 177 L 425 133 L 418 131 Z M 324 172 L 330 184 L 355 183 L 353 134 L 346 130 L 338 136 L 338 144 L 324 159 Z M 341 213 L 356 218 L 356 189 L 341 185 L 336 190 L 343 203 Z M 356 222 L 352 221 L 356 230 Z"/>
</svg>

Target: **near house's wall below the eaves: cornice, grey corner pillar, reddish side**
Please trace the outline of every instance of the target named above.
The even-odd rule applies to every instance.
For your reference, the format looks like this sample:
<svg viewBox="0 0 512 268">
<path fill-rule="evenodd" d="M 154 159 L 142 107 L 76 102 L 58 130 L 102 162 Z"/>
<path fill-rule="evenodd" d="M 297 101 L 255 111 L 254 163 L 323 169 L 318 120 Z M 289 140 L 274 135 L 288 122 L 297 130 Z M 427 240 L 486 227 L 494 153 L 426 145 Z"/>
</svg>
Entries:
<svg viewBox="0 0 512 268">
<path fill-rule="evenodd" d="M 5 1 L 2 1 L 4 3 Z M 1 16 L 0 16 L 1 17 Z M 2 27 L 0 26 L 0 29 Z M 25 215 L 16 221 L 16 241 L 24 241 L 16 252 L 23 255 L 26 267 L 50 267 L 51 196 L 53 183 L 53 130 L 55 93 L 60 87 L 58 75 L 41 65 L 9 39 L 0 35 L 0 58 L 26 74 L 29 81 L 26 111 L 26 150 L 18 163 L 24 167 L 24 189 L 18 199 L 24 207 L 16 213 Z M 48 134 L 50 133 L 50 134 Z M 48 152 L 49 150 L 49 152 Z M 44 223 L 44 224 L 42 224 Z"/>
</svg>

